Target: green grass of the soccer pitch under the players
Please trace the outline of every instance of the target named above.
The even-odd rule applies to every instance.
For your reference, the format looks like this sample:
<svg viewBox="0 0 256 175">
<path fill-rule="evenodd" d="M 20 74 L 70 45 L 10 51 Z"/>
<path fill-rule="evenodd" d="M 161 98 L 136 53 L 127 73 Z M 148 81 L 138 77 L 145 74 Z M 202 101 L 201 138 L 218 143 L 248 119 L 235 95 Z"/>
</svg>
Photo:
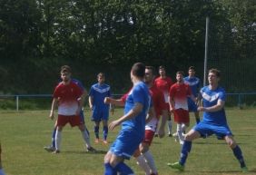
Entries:
<svg viewBox="0 0 256 175">
<path fill-rule="evenodd" d="M 120 116 L 118 110 L 110 116 L 110 121 Z M 58 155 L 44 151 L 50 144 L 54 122 L 48 119 L 48 111 L 1 111 L 0 139 L 2 142 L 2 160 L 7 175 L 91 175 L 103 174 L 103 156 L 109 146 L 94 144 L 94 123 L 90 121 L 90 112 L 85 111 L 86 125 L 91 131 L 91 141 L 99 153 L 85 153 L 84 141 L 77 128 L 67 125 L 63 131 L 62 152 Z M 256 110 L 227 110 L 228 121 L 235 140 L 240 144 L 250 174 L 256 174 Z M 192 125 L 194 118 L 191 117 Z M 112 142 L 119 128 L 109 131 Z M 173 130 L 174 131 L 174 130 Z M 102 135 L 102 134 L 101 134 Z M 167 162 L 179 159 L 181 147 L 173 138 L 155 138 L 151 146 L 159 174 L 181 174 L 166 166 Z M 143 171 L 135 160 L 126 160 L 136 174 Z M 238 161 L 232 151 L 215 137 L 194 141 L 186 169 L 188 174 L 227 175 L 241 174 Z"/>
</svg>

